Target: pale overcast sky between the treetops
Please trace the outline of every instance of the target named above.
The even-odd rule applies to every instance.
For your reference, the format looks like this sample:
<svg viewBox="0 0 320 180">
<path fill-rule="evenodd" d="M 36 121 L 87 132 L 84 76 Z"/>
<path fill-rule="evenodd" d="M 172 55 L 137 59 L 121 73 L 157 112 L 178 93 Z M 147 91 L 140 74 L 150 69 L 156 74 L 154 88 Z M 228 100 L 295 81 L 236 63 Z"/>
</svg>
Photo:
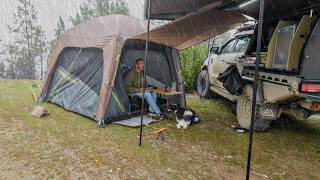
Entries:
<svg viewBox="0 0 320 180">
<path fill-rule="evenodd" d="M 39 24 L 46 31 L 49 40 L 53 38 L 59 16 L 62 16 L 67 28 L 71 27 L 69 16 L 79 11 L 79 6 L 87 0 L 31 0 L 38 12 Z M 125 0 L 132 16 L 143 18 L 144 0 Z M 7 25 L 12 23 L 12 14 L 16 11 L 17 0 L 0 0 L 0 39 L 9 42 Z"/>
</svg>

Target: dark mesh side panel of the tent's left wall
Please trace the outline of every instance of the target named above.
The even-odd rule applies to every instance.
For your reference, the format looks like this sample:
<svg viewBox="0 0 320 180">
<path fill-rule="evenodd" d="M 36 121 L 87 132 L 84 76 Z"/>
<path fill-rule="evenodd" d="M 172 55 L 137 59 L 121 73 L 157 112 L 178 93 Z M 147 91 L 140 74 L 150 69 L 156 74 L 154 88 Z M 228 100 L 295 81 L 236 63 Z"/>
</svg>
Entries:
<svg viewBox="0 0 320 180">
<path fill-rule="evenodd" d="M 102 78 L 102 50 L 65 48 L 54 68 L 48 100 L 94 119 Z"/>
</svg>

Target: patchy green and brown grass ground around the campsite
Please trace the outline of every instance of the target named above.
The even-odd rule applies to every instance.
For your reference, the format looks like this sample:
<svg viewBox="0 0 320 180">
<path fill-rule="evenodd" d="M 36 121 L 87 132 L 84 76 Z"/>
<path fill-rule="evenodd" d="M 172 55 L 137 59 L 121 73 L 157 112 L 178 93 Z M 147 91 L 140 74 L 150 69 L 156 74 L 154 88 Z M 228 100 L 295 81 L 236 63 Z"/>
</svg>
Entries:
<svg viewBox="0 0 320 180">
<path fill-rule="evenodd" d="M 138 146 L 139 129 L 95 122 L 45 104 L 50 116 L 30 116 L 39 93 L 36 81 L 0 81 L 0 179 L 244 179 L 248 134 L 236 123 L 234 105 L 224 99 L 188 105 L 201 122 L 177 130 L 164 127 L 165 140 Z M 150 133 L 150 129 L 144 129 Z M 283 121 L 255 133 L 253 179 L 319 179 L 320 122 Z"/>
</svg>

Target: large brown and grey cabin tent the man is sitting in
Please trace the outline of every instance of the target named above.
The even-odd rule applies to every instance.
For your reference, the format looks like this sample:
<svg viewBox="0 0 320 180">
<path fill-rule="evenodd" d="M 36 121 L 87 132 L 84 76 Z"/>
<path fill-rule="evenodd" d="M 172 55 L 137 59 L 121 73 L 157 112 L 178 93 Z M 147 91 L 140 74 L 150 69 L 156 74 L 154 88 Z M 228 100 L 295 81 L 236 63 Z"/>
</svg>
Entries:
<svg viewBox="0 0 320 180">
<path fill-rule="evenodd" d="M 131 16 L 111 15 L 75 26 L 58 38 L 39 97 L 94 120 L 120 120 L 128 114 L 124 76 L 144 58 L 145 40 L 130 37 L 145 32 Z M 150 44 L 147 79 L 154 87 L 177 82 L 183 91 L 176 49 Z M 162 71 L 158 71 L 162 69 Z M 176 99 L 185 102 L 184 95 Z"/>
</svg>

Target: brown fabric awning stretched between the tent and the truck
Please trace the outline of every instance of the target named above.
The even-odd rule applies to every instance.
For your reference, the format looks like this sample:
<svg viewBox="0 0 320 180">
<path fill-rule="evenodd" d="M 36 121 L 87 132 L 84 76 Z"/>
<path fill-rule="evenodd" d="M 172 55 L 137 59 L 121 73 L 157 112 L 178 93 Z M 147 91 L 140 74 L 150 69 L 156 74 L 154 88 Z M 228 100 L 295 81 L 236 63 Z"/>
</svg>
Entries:
<svg viewBox="0 0 320 180">
<path fill-rule="evenodd" d="M 239 13 L 221 11 L 215 4 L 201 8 L 167 25 L 150 31 L 150 41 L 182 50 L 234 29 L 246 18 Z M 145 39 L 146 33 L 132 39 Z"/>
</svg>

